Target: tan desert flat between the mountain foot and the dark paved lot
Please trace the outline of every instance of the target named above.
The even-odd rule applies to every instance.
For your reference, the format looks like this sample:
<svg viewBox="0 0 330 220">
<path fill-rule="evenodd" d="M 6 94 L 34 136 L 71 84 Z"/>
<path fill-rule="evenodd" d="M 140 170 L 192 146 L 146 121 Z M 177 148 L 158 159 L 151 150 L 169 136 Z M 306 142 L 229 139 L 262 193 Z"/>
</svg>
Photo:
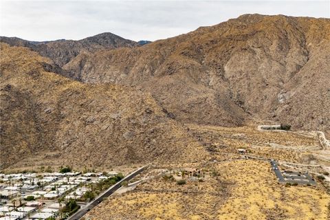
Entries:
<svg viewBox="0 0 330 220">
<path fill-rule="evenodd" d="M 318 137 L 294 132 L 257 131 L 256 126 L 234 128 L 188 124 L 192 135 L 214 159 L 228 159 L 245 148 L 250 155 L 298 163 L 309 163 L 319 153 Z"/>
</svg>

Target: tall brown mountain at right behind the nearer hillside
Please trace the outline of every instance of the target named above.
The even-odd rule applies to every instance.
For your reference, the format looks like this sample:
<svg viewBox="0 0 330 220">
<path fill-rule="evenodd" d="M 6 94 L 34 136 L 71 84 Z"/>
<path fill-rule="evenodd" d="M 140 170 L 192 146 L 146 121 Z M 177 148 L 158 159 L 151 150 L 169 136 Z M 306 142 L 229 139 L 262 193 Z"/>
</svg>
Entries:
<svg viewBox="0 0 330 220">
<path fill-rule="evenodd" d="M 84 83 L 151 92 L 181 122 L 325 131 L 329 38 L 329 19 L 246 14 L 143 47 L 80 53 L 63 68 Z"/>
</svg>

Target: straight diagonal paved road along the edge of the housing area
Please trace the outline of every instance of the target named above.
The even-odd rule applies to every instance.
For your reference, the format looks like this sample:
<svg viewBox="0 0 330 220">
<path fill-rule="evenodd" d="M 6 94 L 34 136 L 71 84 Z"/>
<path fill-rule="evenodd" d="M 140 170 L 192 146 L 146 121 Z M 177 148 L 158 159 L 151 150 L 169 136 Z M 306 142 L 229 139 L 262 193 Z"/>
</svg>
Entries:
<svg viewBox="0 0 330 220">
<path fill-rule="evenodd" d="M 113 194 L 113 192 L 115 192 L 115 190 L 118 190 L 118 188 L 120 188 L 123 181 L 129 181 L 129 180 L 133 179 L 133 177 L 135 177 L 136 175 L 141 173 L 147 167 L 148 167 L 148 165 L 142 166 L 142 168 L 135 170 L 130 175 L 127 175 L 126 177 L 124 177 L 124 179 L 118 181 L 118 183 L 116 183 L 113 186 L 111 186 L 110 188 L 108 188 L 105 192 L 103 192 L 101 195 L 99 195 L 94 201 L 91 201 L 90 203 L 87 204 L 87 206 L 78 210 L 78 212 L 76 212 L 71 217 L 69 217 L 68 220 L 81 219 L 81 217 L 83 217 L 87 212 L 89 212 L 89 210 L 91 210 L 95 206 L 98 206 L 98 204 L 101 203 L 104 198 L 109 197 L 111 194 Z"/>
</svg>

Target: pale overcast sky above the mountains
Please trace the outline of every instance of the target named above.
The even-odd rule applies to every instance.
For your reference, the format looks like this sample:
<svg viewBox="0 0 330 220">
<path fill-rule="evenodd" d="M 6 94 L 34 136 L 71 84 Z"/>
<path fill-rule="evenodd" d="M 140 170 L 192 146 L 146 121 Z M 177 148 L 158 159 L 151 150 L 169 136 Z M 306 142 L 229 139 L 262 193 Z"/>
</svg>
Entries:
<svg viewBox="0 0 330 220">
<path fill-rule="evenodd" d="M 330 18 L 330 0 L 0 0 L 0 36 L 17 36 L 30 41 L 78 40 L 111 32 L 133 41 L 155 41 L 254 13 Z"/>
</svg>

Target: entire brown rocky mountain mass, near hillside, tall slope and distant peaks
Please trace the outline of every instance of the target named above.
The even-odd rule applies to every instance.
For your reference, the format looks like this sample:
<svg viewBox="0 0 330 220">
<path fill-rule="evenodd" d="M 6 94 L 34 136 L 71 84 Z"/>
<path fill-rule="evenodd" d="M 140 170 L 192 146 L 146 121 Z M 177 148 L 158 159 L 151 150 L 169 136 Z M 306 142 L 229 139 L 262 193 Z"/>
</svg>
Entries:
<svg viewBox="0 0 330 220">
<path fill-rule="evenodd" d="M 329 69 L 330 19 L 245 14 L 142 43 L 1 37 L 0 162 L 208 157 L 186 123 L 327 132 Z"/>
</svg>

